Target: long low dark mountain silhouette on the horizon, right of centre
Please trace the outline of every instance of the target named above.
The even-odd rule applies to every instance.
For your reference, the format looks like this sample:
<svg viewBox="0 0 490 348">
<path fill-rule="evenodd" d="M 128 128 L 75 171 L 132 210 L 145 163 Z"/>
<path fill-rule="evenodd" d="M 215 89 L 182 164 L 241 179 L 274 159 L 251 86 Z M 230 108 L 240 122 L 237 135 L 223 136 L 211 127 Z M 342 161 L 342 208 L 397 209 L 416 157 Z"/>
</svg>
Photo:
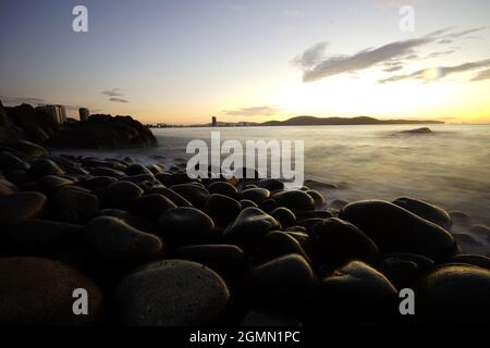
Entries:
<svg viewBox="0 0 490 348">
<path fill-rule="evenodd" d="M 358 117 L 315 117 L 297 116 L 286 121 L 267 121 L 261 126 L 324 126 L 324 125 L 363 125 L 363 124 L 443 124 L 431 120 L 378 120 L 368 116 Z"/>
</svg>

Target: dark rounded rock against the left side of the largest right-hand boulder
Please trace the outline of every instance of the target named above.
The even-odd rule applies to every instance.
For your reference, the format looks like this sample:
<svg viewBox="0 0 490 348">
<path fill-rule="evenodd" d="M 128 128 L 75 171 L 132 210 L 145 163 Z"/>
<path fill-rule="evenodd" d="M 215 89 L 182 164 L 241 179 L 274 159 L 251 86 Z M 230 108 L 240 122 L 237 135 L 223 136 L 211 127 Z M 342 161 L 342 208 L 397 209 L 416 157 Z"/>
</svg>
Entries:
<svg viewBox="0 0 490 348">
<path fill-rule="evenodd" d="M 353 224 L 336 217 L 320 221 L 313 227 L 314 260 L 318 264 L 339 266 L 347 261 L 373 263 L 380 258 L 376 244 Z"/>
</svg>

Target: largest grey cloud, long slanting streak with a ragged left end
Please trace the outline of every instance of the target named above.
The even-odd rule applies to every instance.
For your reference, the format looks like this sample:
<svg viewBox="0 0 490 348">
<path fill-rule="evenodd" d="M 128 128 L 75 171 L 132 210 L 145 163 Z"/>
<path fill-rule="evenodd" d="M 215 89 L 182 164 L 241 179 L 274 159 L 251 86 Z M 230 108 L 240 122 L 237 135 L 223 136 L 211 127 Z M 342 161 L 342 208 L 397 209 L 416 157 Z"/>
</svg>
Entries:
<svg viewBox="0 0 490 348">
<path fill-rule="evenodd" d="M 314 82 L 342 73 L 371 67 L 378 63 L 404 55 L 412 58 L 411 55 L 415 54 L 415 48 L 439 39 L 440 35 L 446 30 L 449 29 L 440 29 L 419 38 L 394 41 L 375 49 L 367 48 L 353 55 L 326 57 L 327 42 L 319 42 L 308 48 L 303 54 L 297 55 L 293 63 L 303 70 L 304 82 Z"/>
</svg>

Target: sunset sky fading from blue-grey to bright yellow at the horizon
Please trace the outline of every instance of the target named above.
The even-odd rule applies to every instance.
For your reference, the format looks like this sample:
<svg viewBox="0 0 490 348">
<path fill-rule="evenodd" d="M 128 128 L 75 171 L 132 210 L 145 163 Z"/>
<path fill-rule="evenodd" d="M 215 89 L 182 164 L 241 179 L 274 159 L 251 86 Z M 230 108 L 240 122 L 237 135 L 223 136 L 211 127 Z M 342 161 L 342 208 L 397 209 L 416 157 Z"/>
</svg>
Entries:
<svg viewBox="0 0 490 348">
<path fill-rule="evenodd" d="M 2 0 L 0 47 L 4 104 L 72 115 L 490 122 L 488 0 Z"/>
</svg>

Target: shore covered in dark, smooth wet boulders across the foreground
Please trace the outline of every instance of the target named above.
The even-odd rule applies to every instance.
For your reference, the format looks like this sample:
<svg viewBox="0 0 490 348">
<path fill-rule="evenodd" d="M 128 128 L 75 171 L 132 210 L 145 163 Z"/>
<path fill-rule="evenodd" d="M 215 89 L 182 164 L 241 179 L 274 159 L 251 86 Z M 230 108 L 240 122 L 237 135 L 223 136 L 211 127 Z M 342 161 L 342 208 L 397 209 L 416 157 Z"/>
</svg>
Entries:
<svg viewBox="0 0 490 348">
<path fill-rule="evenodd" d="M 185 165 L 24 145 L 1 152 L 0 283 L 11 285 L 0 296 L 13 304 L 0 304 L 0 322 L 403 325 L 395 299 L 405 287 L 471 298 L 451 315 L 429 300 L 415 324 L 488 313 L 490 231 L 464 213 L 409 198 L 326 201 L 315 182 L 192 181 Z M 436 281 L 457 286 L 434 294 Z M 88 315 L 65 308 L 74 286 L 95 299 Z M 39 297 L 45 288 L 59 291 Z"/>
</svg>

